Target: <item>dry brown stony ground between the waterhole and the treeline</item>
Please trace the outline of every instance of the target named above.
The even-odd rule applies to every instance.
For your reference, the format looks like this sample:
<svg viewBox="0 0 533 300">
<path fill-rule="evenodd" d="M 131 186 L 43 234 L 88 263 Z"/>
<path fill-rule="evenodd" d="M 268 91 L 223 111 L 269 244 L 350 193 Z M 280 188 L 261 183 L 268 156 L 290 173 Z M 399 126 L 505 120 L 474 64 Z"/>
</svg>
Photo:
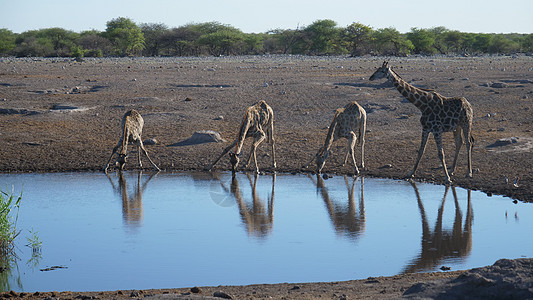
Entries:
<svg viewBox="0 0 533 300">
<path fill-rule="evenodd" d="M 363 175 L 404 178 L 420 143 L 420 112 L 390 83 L 368 80 L 384 59 L 0 58 L 0 171 L 101 170 L 129 109 L 144 117 L 143 139 L 157 141 L 147 150 L 161 169 L 202 170 L 235 139 L 245 109 L 265 100 L 274 110 L 276 171 L 310 172 L 314 168 L 301 167 L 324 143 L 335 109 L 355 100 L 368 114 Z M 463 147 L 453 184 L 533 201 L 533 57 L 391 58 L 390 65 L 415 86 L 464 96 L 471 103 L 474 177 L 465 178 Z M 176 146 L 201 130 L 219 132 L 227 142 Z M 450 166 L 455 147 L 451 133 L 444 144 Z M 344 140 L 334 144 L 323 172 L 353 173 L 352 166 L 340 167 L 346 146 Z M 265 172 L 272 171 L 269 150 L 265 144 L 257 152 Z M 131 157 L 126 169 L 136 167 Z M 223 158 L 216 168 L 228 170 L 229 160 Z M 416 175 L 421 181 L 444 183 L 432 138 Z M 409 276 L 427 280 L 449 274 Z M 384 281 L 396 282 L 396 277 L 377 283 Z M 324 289 L 334 286 L 338 284 Z"/>
</svg>

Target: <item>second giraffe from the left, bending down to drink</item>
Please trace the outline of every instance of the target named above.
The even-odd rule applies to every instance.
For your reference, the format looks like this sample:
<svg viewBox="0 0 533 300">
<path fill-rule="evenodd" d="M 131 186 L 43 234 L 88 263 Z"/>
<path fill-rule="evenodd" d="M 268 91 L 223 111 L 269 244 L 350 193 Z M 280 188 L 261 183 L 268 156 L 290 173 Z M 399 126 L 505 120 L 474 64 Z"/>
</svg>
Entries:
<svg viewBox="0 0 533 300">
<path fill-rule="evenodd" d="M 276 169 L 276 152 L 274 150 L 274 112 L 272 108 L 263 100 L 257 102 L 256 104 L 248 107 L 244 118 L 242 120 L 241 126 L 239 128 L 237 138 L 229 145 L 222 154 L 208 167 L 205 168 L 206 171 L 210 171 L 213 166 L 228 153 L 231 148 L 235 147 L 235 152 L 230 152 L 230 162 L 231 162 L 231 171 L 233 174 L 237 171 L 237 165 L 239 164 L 239 157 L 241 156 L 242 146 L 244 140 L 247 137 L 253 137 L 254 141 L 252 143 L 252 149 L 250 151 L 250 156 L 248 157 L 248 162 L 245 165 L 247 168 L 252 161 L 252 157 L 255 162 L 255 173 L 259 173 L 259 168 L 257 167 L 257 158 L 255 150 L 257 146 L 268 138 L 267 141 L 271 144 L 272 148 L 272 167 Z"/>
</svg>

